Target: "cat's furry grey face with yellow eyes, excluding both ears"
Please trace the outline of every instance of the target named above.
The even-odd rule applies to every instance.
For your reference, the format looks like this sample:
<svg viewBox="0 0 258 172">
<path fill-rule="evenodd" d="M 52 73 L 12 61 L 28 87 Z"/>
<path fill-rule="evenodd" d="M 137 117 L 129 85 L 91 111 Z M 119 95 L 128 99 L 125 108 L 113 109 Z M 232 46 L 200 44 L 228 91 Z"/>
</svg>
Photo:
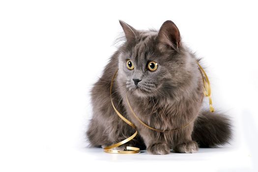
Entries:
<svg viewBox="0 0 258 172">
<path fill-rule="evenodd" d="M 140 97 L 166 96 L 188 76 L 185 57 L 173 49 L 162 51 L 157 35 L 141 32 L 134 43 L 121 49 L 118 72 L 127 92 Z"/>
</svg>

